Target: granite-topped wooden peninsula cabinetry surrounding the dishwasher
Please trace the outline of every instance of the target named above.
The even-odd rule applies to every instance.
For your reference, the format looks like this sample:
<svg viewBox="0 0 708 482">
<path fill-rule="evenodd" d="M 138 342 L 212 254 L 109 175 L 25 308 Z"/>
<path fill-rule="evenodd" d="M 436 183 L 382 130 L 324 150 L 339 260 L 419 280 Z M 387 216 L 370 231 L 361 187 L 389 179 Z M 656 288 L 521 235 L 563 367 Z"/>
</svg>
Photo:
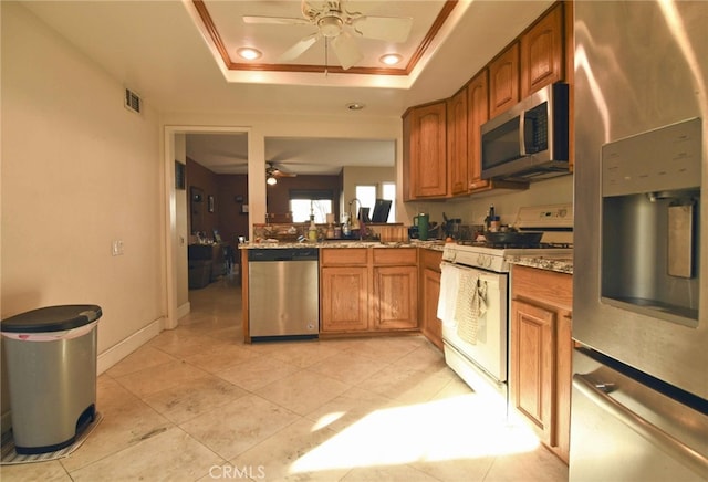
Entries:
<svg viewBox="0 0 708 482">
<path fill-rule="evenodd" d="M 316 249 L 320 337 L 418 333 L 419 251 L 441 255 L 442 241 L 243 243 L 241 250 L 243 336 L 251 343 L 249 251 Z M 437 344 L 437 340 L 433 339 Z"/>
</svg>

